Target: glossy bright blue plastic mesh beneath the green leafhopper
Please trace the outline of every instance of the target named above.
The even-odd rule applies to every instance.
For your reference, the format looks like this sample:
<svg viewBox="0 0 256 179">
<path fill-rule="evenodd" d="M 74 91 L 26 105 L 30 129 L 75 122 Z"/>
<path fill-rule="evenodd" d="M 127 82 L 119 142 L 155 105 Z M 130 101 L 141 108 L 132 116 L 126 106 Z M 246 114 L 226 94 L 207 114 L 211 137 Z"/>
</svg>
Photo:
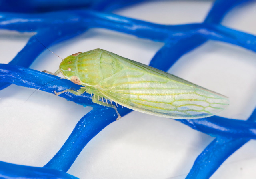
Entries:
<svg viewBox="0 0 256 179">
<path fill-rule="evenodd" d="M 165 45 L 156 53 L 150 66 L 166 71 L 180 56 L 207 40 L 227 42 L 256 52 L 255 36 L 220 25 L 228 10 L 245 1 L 216 0 L 203 23 L 175 26 L 154 24 L 106 13 L 138 2 L 136 0 L 73 0 L 63 2 L 63 4 L 58 0 L 51 0 L 50 5 L 48 5 L 48 0 L 26 0 L 20 1 L 20 4 L 13 1 L 1 1 L 0 28 L 19 32 L 31 32 L 33 29 L 37 32 L 37 38 L 40 38 L 45 46 L 70 39 L 85 32 L 88 28 L 95 27 L 164 42 Z M 32 12 L 42 13 L 32 14 Z M 11 83 L 29 88 L 40 88 L 49 93 L 71 87 L 78 89 L 79 86 L 68 80 L 47 83 L 59 77 L 28 68 L 43 50 L 45 48 L 32 36 L 9 64 L 0 64 L 0 89 L 8 87 Z M 46 85 L 42 86 L 42 84 Z M 44 167 L 28 167 L 1 161 L 1 178 L 76 178 L 65 172 L 74 163 L 84 146 L 104 127 L 115 121 L 115 111 L 87 100 L 90 95 L 86 93 L 81 96 L 63 94 L 61 97 L 80 105 L 93 106 L 93 110 L 80 119 L 62 148 Z M 127 108 L 119 109 L 122 116 L 131 111 Z M 247 121 L 218 116 L 176 120 L 193 129 L 216 136 L 216 139 L 197 157 L 186 179 L 208 179 L 234 151 L 250 139 L 256 138 L 254 132 L 256 110 Z"/>
</svg>

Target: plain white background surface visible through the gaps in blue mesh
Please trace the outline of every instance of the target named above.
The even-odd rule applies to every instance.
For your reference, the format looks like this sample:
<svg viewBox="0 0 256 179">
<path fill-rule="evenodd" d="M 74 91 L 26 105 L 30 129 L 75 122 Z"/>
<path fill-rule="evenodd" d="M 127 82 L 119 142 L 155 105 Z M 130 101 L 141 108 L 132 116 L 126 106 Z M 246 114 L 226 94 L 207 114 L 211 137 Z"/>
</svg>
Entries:
<svg viewBox="0 0 256 179">
<path fill-rule="evenodd" d="M 186 24 L 202 22 L 211 4 L 211 0 L 153 1 L 116 13 L 162 24 Z M 228 13 L 222 24 L 256 35 L 255 7 L 256 2 L 242 4 Z M 1 30 L 0 62 L 12 60 L 30 36 L 31 33 Z M 91 29 L 51 46 L 50 50 L 65 58 L 102 48 L 148 64 L 162 46 L 163 43 L 127 34 Z M 255 59 L 254 52 L 208 41 L 182 56 L 169 72 L 228 96 L 230 106 L 220 116 L 245 120 L 256 105 Z M 60 61 L 45 50 L 31 68 L 55 72 Z M 42 167 L 91 109 L 42 91 L 36 91 L 28 99 L 33 91 L 15 85 L 0 91 L 0 161 Z M 172 119 L 134 111 L 94 137 L 68 173 L 81 179 L 183 179 L 213 139 Z M 255 141 L 248 142 L 211 179 L 255 178 L 255 147 Z"/>
</svg>

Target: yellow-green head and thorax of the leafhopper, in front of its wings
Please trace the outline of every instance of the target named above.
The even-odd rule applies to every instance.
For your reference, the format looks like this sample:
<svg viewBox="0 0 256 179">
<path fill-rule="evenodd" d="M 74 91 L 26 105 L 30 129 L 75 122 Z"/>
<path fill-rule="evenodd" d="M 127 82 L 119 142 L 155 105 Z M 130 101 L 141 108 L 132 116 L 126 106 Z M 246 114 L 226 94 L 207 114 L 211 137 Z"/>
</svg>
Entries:
<svg viewBox="0 0 256 179">
<path fill-rule="evenodd" d="M 121 69 L 119 60 L 101 49 L 68 56 L 60 64 L 60 71 L 66 78 L 70 80 L 77 76 L 83 84 L 90 86 L 98 85 Z"/>
</svg>

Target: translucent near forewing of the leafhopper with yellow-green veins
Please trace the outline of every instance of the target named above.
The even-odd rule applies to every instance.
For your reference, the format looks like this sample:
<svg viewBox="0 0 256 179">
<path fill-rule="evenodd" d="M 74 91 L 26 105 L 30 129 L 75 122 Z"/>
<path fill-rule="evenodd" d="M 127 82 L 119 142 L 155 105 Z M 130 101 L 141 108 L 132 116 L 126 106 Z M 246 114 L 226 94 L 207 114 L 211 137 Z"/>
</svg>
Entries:
<svg viewBox="0 0 256 179">
<path fill-rule="evenodd" d="M 218 93 L 184 83 L 186 80 L 171 74 L 167 76 L 171 78 L 124 68 L 103 80 L 97 88 L 124 107 L 161 117 L 209 117 L 228 106 L 228 99 Z"/>
</svg>

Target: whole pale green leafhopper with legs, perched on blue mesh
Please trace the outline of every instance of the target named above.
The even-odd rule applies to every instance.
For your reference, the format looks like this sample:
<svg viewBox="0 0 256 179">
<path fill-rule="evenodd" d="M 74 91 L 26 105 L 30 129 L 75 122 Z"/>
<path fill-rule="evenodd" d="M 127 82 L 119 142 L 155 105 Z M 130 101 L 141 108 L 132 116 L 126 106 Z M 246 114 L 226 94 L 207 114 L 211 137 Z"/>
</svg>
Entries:
<svg viewBox="0 0 256 179">
<path fill-rule="evenodd" d="M 60 72 L 83 87 L 78 91 L 54 91 L 56 95 L 93 94 L 92 101 L 114 108 L 117 119 L 121 116 L 112 101 L 135 111 L 175 119 L 209 117 L 229 105 L 224 95 L 102 49 L 66 57 L 54 75 Z"/>
</svg>

